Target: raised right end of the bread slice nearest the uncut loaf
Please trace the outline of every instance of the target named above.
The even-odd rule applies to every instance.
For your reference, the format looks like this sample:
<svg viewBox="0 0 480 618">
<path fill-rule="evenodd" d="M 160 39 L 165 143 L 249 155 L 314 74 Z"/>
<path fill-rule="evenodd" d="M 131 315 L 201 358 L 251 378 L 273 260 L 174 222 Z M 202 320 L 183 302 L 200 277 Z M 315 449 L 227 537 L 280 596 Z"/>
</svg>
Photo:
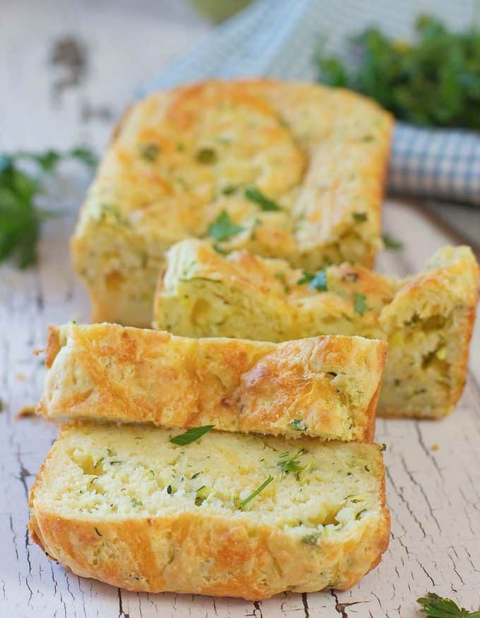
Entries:
<svg viewBox="0 0 480 618">
<path fill-rule="evenodd" d="M 444 247 L 404 281 L 380 315 L 388 339 L 379 416 L 441 418 L 467 380 L 479 266 L 469 247 Z"/>
</svg>

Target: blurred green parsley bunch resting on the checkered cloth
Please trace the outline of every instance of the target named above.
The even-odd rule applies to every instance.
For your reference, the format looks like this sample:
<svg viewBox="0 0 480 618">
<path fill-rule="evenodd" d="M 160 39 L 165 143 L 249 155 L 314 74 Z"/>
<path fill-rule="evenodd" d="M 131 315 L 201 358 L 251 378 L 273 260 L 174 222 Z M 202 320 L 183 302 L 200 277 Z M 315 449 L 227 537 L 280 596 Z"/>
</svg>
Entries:
<svg viewBox="0 0 480 618">
<path fill-rule="evenodd" d="M 480 129 L 480 29 L 450 32 L 422 15 L 416 33 L 409 44 L 369 28 L 352 40 L 359 58 L 352 70 L 320 50 L 320 80 L 362 92 L 414 124 Z"/>
</svg>

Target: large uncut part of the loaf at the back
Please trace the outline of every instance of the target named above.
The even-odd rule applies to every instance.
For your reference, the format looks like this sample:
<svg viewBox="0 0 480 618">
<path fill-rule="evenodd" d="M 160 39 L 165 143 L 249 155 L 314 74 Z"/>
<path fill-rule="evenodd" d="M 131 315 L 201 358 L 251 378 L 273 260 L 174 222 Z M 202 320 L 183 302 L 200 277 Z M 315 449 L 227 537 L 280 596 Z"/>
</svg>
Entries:
<svg viewBox="0 0 480 618">
<path fill-rule="evenodd" d="M 391 129 L 373 101 L 311 83 L 211 80 L 137 102 L 73 237 L 92 320 L 150 326 L 164 251 L 187 237 L 306 269 L 371 265 Z"/>
</svg>

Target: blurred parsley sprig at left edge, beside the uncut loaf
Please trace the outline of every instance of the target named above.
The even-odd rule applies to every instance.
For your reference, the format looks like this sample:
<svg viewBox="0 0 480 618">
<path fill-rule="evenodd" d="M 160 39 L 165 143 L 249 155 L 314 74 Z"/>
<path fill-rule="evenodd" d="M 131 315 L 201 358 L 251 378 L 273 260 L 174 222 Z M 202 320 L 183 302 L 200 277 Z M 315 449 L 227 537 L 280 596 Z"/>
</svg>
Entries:
<svg viewBox="0 0 480 618">
<path fill-rule="evenodd" d="M 22 269 L 37 263 L 40 226 L 52 213 L 40 210 L 35 198 L 42 193 L 45 174 L 52 173 L 64 159 L 77 159 L 89 167 L 96 164 L 95 156 L 86 148 L 63 154 L 56 150 L 0 154 L 0 262 L 14 255 Z M 25 171 L 22 162 L 34 164 L 40 174 Z"/>
</svg>

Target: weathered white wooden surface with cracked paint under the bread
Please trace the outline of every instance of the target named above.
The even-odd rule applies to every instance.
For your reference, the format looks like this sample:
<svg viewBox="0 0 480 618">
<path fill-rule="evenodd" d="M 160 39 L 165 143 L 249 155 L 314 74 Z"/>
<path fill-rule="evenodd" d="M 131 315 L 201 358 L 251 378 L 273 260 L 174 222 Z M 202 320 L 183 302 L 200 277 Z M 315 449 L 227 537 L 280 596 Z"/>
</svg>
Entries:
<svg viewBox="0 0 480 618">
<path fill-rule="evenodd" d="M 136 85 L 207 31 L 208 25 L 174 0 L 3 0 L 0 148 L 66 148 L 85 141 L 100 150 Z M 54 83 L 65 78 L 66 69 L 49 59 L 55 42 L 66 36 L 83 42 L 88 62 L 79 83 L 59 95 Z M 467 387 L 452 416 L 439 423 L 378 421 L 377 440 L 388 444 L 392 538 L 380 566 L 346 593 L 285 594 L 257 603 L 127 593 L 67 573 L 30 543 L 27 493 L 56 428 L 40 418 L 14 417 L 42 389 L 44 369 L 32 350 L 43 346 L 47 325 L 88 319 L 85 292 L 68 258 L 68 236 L 88 177 L 68 168 L 59 182 L 58 207 L 72 214 L 45 226 L 39 267 L 0 269 L 6 406 L 0 414 L 0 616 L 406 618 L 420 615 L 415 600 L 427 590 L 467 607 L 480 605 L 478 327 Z M 405 242 L 403 251 L 380 256 L 380 268 L 394 274 L 419 269 L 448 241 L 401 202 L 386 205 L 385 230 Z"/>
</svg>

